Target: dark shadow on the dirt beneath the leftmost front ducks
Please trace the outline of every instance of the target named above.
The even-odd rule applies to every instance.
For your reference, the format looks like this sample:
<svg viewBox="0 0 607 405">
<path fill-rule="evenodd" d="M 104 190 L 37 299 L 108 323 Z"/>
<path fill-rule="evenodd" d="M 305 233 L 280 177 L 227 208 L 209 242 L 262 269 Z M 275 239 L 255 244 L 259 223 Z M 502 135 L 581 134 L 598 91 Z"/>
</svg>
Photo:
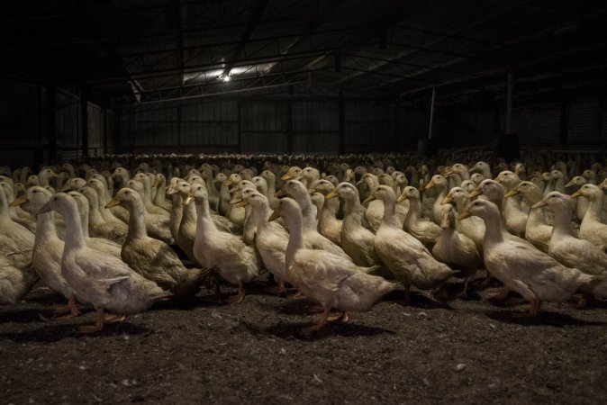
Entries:
<svg viewBox="0 0 607 405">
<path fill-rule="evenodd" d="M 53 323 L 44 325 L 38 329 L 23 332 L 0 333 L 0 338 L 8 338 L 14 342 L 59 342 L 59 340 L 63 340 L 64 338 L 87 338 L 88 336 L 116 336 L 122 334 L 144 335 L 153 333 L 152 329 L 143 328 L 128 321 L 105 325 L 104 329 L 101 331 L 91 334 L 77 332 L 78 326 L 88 325 L 90 323 L 91 322 L 78 322 L 77 324 Z"/>
</svg>

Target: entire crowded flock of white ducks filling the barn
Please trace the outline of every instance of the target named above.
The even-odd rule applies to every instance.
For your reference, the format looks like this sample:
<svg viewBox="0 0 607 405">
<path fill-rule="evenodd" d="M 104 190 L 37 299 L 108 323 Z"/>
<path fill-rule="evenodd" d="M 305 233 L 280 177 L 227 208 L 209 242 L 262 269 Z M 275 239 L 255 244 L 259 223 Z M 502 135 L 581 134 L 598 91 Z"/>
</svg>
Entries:
<svg viewBox="0 0 607 405">
<path fill-rule="evenodd" d="M 246 162 L 247 164 L 243 164 Z M 73 166 L 0 167 L 0 303 L 39 280 L 58 316 L 95 308 L 95 332 L 159 300 L 270 273 L 321 317 L 349 321 L 412 287 L 467 299 L 489 277 L 519 293 L 582 307 L 607 299 L 607 168 L 592 157 L 483 152 L 343 157 L 106 157 Z M 486 269 L 485 282 L 476 274 Z M 454 298 L 454 297 L 451 297 Z M 340 315 L 331 318 L 331 311 Z M 109 311 L 109 312 L 106 312 Z"/>
</svg>

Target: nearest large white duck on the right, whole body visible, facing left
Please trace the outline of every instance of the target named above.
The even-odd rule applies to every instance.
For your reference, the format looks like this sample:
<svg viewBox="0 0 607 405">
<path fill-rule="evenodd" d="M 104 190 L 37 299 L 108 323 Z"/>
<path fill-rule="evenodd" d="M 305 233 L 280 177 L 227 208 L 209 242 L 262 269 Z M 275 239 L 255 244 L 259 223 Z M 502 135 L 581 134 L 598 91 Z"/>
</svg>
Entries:
<svg viewBox="0 0 607 405">
<path fill-rule="evenodd" d="M 584 275 L 561 265 L 553 257 L 518 240 L 504 238 L 500 211 L 494 202 L 476 200 L 459 219 L 475 215 L 485 221 L 483 256 L 487 271 L 505 287 L 530 302 L 529 311 L 515 316 L 536 317 L 540 302 L 565 302 L 580 287 L 593 284 L 597 276 Z"/>
</svg>

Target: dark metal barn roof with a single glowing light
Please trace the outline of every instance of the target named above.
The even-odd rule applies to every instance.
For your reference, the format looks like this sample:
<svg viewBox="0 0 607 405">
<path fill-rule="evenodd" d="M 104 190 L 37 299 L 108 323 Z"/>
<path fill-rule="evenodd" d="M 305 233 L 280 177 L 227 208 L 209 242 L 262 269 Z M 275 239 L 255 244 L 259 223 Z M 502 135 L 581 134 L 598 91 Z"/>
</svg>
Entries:
<svg viewBox="0 0 607 405">
<path fill-rule="evenodd" d="M 3 8 L 6 6 L 3 5 Z M 568 0 L 24 0 L 4 69 L 150 103 L 292 84 L 443 102 L 607 88 L 607 4 Z M 428 91 L 427 91 L 428 90 Z"/>
</svg>

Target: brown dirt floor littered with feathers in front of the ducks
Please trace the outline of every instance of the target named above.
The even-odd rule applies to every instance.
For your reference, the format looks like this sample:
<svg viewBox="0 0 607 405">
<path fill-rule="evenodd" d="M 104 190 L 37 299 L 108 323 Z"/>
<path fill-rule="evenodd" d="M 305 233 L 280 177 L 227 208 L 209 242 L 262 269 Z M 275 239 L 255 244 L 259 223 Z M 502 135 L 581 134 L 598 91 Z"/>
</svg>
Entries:
<svg viewBox="0 0 607 405">
<path fill-rule="evenodd" d="M 527 320 L 487 301 L 495 288 L 395 294 L 303 338 L 311 302 L 264 287 L 232 306 L 203 289 L 86 336 L 95 313 L 52 320 L 61 297 L 37 286 L 0 308 L 0 403 L 607 403 L 607 302 Z"/>
</svg>

